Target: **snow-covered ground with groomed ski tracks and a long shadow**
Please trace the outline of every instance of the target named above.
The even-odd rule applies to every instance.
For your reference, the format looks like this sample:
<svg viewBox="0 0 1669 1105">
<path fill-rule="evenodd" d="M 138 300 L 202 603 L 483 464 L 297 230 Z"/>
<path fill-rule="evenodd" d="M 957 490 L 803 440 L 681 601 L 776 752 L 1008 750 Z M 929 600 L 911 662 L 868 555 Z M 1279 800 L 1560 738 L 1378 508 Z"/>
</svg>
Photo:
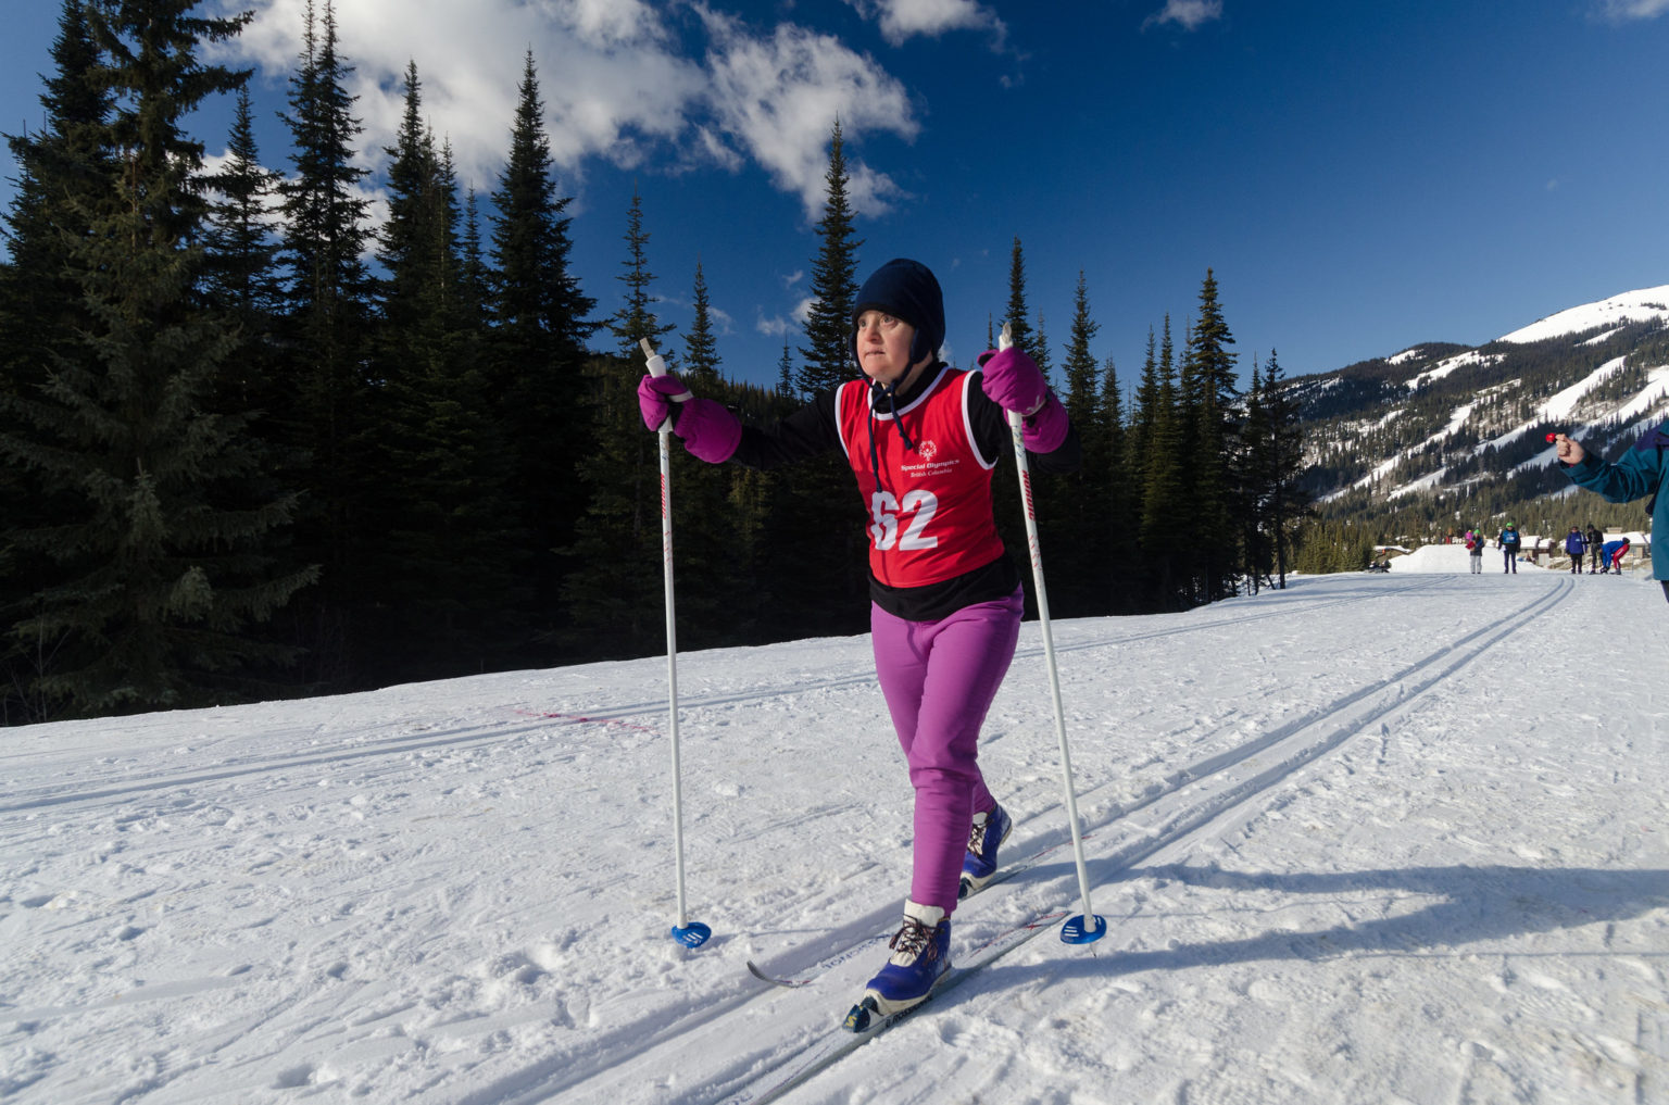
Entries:
<svg viewBox="0 0 1669 1105">
<path fill-rule="evenodd" d="M 789 1102 L 1669 1102 L 1669 604 L 1460 546 L 1055 624 L 1095 911 Z M 868 641 L 0 733 L 0 1098 L 711 1102 L 880 966 L 910 788 Z M 1038 626 L 986 724 L 1068 840 Z M 953 956 L 1071 910 L 1070 848 Z M 774 973 L 856 953 L 813 985 Z"/>
</svg>

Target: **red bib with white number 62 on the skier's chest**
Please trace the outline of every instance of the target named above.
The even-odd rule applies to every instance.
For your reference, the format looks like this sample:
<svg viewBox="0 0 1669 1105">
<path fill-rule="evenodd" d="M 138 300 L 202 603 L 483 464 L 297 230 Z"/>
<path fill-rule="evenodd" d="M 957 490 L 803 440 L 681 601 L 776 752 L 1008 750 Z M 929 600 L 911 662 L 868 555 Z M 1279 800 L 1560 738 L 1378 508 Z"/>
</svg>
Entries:
<svg viewBox="0 0 1669 1105">
<path fill-rule="evenodd" d="M 896 417 L 871 412 L 868 379 L 841 384 L 834 397 L 841 447 L 870 511 L 870 573 L 890 588 L 955 579 L 1003 554 L 991 514 L 996 459 L 973 444 L 971 387 L 971 372 L 945 369 Z"/>
</svg>

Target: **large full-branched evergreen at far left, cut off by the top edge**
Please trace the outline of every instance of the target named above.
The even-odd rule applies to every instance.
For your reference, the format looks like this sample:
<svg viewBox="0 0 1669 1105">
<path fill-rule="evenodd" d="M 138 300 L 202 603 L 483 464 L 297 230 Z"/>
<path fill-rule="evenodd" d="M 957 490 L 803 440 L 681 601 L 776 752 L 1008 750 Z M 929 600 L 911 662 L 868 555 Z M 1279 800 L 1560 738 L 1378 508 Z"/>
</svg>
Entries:
<svg viewBox="0 0 1669 1105">
<path fill-rule="evenodd" d="M 265 542 L 294 496 L 252 494 L 262 456 L 247 417 L 210 401 L 237 337 L 197 295 L 207 217 L 202 145 L 182 120 L 244 73 L 202 65 L 249 17 L 197 18 L 192 0 L 87 10 L 103 63 L 88 70 L 115 105 L 105 147 L 113 202 L 80 204 L 87 235 L 65 244 L 88 322 L 53 357 L 25 426 L 0 439 L 13 462 L 72 504 L 70 521 L 13 532 L 60 574 L 15 638 L 50 643 L 37 681 L 67 713 L 219 701 L 282 663 L 265 621 L 312 571 L 277 574 Z"/>
</svg>

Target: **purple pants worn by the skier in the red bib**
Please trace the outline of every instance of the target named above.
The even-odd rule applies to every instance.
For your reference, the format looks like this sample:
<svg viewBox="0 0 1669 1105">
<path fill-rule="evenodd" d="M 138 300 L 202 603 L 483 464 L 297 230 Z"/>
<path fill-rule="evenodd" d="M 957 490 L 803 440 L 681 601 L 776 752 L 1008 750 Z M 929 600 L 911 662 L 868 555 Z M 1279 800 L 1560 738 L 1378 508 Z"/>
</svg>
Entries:
<svg viewBox="0 0 1669 1105">
<path fill-rule="evenodd" d="M 980 726 L 1020 639 L 1021 596 L 941 621 L 870 608 L 875 669 L 916 788 L 910 900 L 956 910 L 973 815 L 996 806 L 980 775 Z"/>
</svg>

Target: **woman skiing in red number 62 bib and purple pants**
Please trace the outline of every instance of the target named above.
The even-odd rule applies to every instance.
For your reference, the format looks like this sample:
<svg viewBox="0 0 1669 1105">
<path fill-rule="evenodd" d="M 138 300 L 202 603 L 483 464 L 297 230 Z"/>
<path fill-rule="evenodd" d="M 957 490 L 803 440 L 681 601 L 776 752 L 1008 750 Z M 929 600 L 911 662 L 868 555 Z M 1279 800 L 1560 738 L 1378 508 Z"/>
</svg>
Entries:
<svg viewBox="0 0 1669 1105">
<path fill-rule="evenodd" d="M 673 419 L 709 462 L 776 467 L 840 449 L 870 521 L 870 628 L 876 674 L 915 788 L 910 898 L 866 997 L 886 1015 L 926 1000 L 950 968 L 956 901 L 996 871 L 1011 820 L 978 766 L 980 726 L 1020 634 L 1020 573 L 996 534 L 991 476 L 1010 441 L 1006 411 L 1040 472 L 1078 467 L 1078 437 L 1020 349 L 983 371 L 938 359 L 945 302 L 926 265 L 896 259 L 853 309 L 860 377 L 769 426 L 743 426 L 668 374 L 638 387 L 644 422 Z"/>
</svg>

